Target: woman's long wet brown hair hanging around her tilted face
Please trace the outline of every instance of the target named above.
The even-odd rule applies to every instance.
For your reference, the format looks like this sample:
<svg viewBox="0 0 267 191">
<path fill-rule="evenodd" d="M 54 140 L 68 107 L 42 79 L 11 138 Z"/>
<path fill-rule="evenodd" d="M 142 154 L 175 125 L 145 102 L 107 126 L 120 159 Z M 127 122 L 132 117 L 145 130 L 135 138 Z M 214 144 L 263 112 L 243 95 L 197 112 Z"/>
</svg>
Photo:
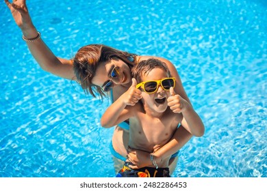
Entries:
<svg viewBox="0 0 267 191">
<path fill-rule="evenodd" d="M 124 61 L 131 70 L 133 63 L 136 61 L 136 55 L 103 44 L 89 44 L 77 51 L 73 59 L 73 70 L 77 82 L 84 89 L 85 93 L 90 93 L 94 97 L 97 97 L 97 93 L 101 98 L 106 95 L 101 87 L 92 84 L 92 78 L 96 74 L 98 65 L 100 63 L 107 63 L 111 59 Z"/>
</svg>

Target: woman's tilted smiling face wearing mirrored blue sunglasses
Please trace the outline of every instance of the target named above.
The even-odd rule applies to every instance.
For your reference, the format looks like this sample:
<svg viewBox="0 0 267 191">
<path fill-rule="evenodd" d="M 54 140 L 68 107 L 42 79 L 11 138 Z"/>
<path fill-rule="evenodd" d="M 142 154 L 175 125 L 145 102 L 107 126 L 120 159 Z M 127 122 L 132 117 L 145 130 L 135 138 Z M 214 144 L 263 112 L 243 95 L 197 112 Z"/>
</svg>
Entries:
<svg viewBox="0 0 267 191">
<path fill-rule="evenodd" d="M 120 59 L 112 59 L 109 62 L 99 63 L 92 83 L 98 85 L 104 91 L 116 85 L 131 85 L 131 70 L 129 66 Z"/>
</svg>

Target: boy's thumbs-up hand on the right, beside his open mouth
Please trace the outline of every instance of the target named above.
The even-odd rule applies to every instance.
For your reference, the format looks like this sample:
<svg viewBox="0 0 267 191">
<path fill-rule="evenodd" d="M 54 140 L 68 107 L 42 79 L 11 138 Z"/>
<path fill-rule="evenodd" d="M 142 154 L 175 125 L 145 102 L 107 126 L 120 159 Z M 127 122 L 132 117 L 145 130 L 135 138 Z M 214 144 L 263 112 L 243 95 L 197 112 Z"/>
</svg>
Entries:
<svg viewBox="0 0 267 191">
<path fill-rule="evenodd" d="M 190 106 L 190 104 L 180 95 L 175 94 L 173 87 L 170 87 L 170 97 L 167 99 L 168 106 L 173 111 L 173 113 L 182 113 Z"/>
</svg>

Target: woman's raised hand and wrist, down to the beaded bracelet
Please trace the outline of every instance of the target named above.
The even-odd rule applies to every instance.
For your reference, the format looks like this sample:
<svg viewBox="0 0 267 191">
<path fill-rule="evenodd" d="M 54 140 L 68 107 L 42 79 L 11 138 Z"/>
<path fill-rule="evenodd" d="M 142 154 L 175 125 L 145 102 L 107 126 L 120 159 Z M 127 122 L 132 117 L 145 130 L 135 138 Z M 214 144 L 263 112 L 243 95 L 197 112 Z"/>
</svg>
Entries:
<svg viewBox="0 0 267 191">
<path fill-rule="evenodd" d="M 35 27 L 31 22 L 31 17 L 29 16 L 26 0 L 14 0 L 12 1 L 12 3 L 10 3 L 10 1 L 8 0 L 5 0 L 5 4 L 8 5 L 8 8 L 10 9 L 10 12 L 16 22 L 16 25 L 21 28 L 23 33 L 27 30 L 35 30 Z M 36 33 L 34 33 L 34 35 L 35 36 L 25 35 L 25 38 L 35 38 Z"/>
</svg>

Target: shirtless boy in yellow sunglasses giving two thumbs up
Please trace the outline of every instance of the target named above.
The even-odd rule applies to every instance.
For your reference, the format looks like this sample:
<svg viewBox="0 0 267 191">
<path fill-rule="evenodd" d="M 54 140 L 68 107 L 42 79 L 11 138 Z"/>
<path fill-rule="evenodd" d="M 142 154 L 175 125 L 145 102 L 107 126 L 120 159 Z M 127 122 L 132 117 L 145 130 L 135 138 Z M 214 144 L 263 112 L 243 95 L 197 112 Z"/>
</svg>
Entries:
<svg viewBox="0 0 267 191">
<path fill-rule="evenodd" d="M 129 119 L 129 148 L 149 152 L 151 165 L 133 170 L 126 160 L 116 177 L 170 177 L 169 158 L 156 161 L 153 151 L 168 143 L 179 123 L 192 135 L 202 136 L 203 122 L 190 103 L 175 95 L 175 78 L 170 77 L 165 63 L 158 59 L 141 61 L 132 74 L 131 87 L 107 108 L 101 126 L 110 128 Z"/>
</svg>

